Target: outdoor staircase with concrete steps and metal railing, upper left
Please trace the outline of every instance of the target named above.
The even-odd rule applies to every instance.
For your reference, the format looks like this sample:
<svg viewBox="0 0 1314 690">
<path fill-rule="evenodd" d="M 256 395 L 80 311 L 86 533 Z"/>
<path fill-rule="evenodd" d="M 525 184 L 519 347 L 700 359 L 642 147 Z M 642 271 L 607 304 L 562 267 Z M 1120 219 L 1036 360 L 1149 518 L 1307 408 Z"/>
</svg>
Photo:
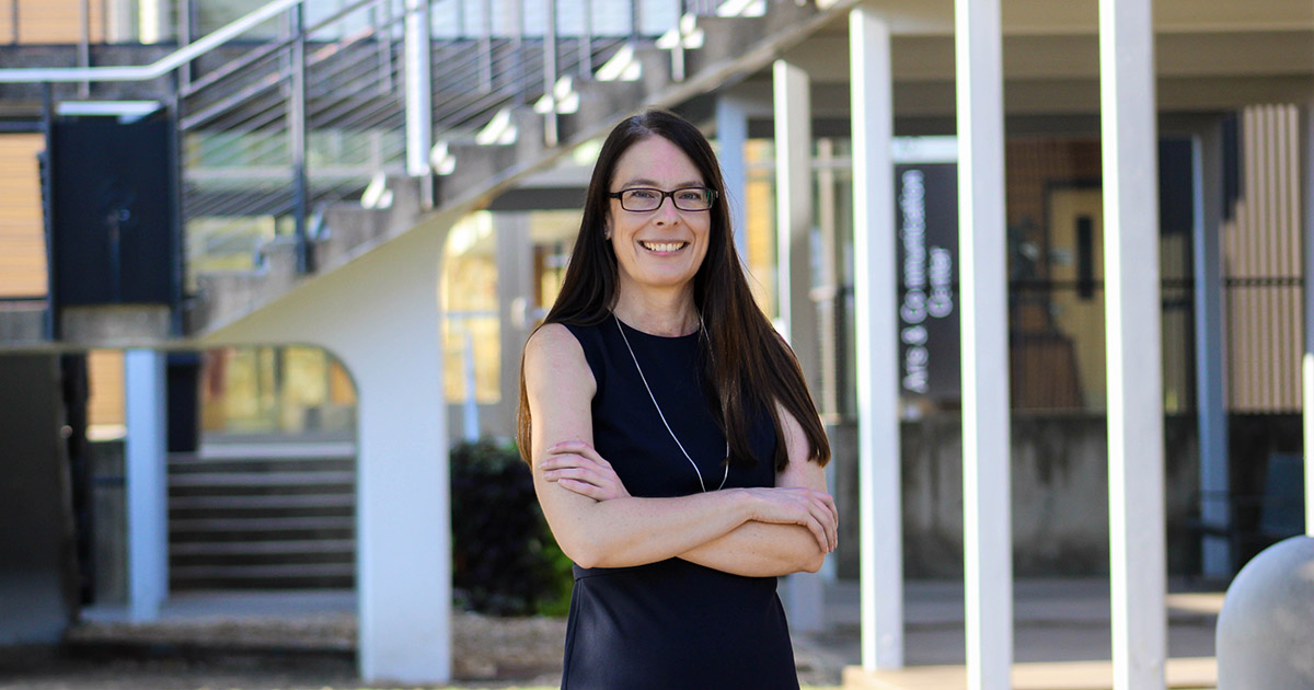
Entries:
<svg viewBox="0 0 1314 690">
<path fill-rule="evenodd" d="M 273 0 L 146 67 L 0 70 L 0 93 L 176 117 L 191 335 L 761 70 L 853 3 Z"/>
</svg>

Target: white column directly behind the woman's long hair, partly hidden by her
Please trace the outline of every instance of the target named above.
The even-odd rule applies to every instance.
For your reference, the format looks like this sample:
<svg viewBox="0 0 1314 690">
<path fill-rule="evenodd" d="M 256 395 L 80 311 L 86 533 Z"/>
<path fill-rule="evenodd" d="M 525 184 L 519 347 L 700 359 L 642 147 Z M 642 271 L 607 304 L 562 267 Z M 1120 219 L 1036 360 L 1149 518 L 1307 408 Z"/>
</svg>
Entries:
<svg viewBox="0 0 1314 690">
<path fill-rule="evenodd" d="M 813 398 L 817 396 L 817 327 L 812 288 L 812 104 L 808 75 L 775 60 L 775 272 L 784 338 L 803 367 Z M 820 630 L 824 611 L 823 578 L 796 573 L 786 580 L 790 627 Z"/>
</svg>

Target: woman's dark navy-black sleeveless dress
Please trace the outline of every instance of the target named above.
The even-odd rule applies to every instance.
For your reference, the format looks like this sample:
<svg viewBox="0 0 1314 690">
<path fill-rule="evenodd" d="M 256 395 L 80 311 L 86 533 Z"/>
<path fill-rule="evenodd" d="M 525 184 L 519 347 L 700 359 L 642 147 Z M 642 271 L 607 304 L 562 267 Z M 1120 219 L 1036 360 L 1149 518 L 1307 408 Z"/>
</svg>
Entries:
<svg viewBox="0 0 1314 690">
<path fill-rule="evenodd" d="M 702 490 L 640 379 L 620 329 L 666 421 L 708 490 L 724 474 L 725 438 L 700 386 L 698 334 L 648 335 L 608 317 L 568 326 L 598 392 L 594 447 L 636 497 Z M 775 435 L 753 421 L 758 463 L 733 467 L 725 488 L 774 486 Z M 670 559 L 633 568 L 574 568 L 566 627 L 565 690 L 796 690 L 794 651 L 774 577 L 742 577 Z"/>
</svg>

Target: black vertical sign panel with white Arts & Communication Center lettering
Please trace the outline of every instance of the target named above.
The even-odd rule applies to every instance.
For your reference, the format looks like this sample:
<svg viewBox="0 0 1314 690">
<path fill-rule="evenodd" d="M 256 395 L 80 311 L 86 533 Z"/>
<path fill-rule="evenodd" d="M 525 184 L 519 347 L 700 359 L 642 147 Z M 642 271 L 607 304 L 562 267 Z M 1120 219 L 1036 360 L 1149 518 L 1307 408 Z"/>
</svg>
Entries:
<svg viewBox="0 0 1314 690">
<path fill-rule="evenodd" d="M 899 392 L 957 398 L 958 166 L 895 166 L 899 231 Z"/>
</svg>

